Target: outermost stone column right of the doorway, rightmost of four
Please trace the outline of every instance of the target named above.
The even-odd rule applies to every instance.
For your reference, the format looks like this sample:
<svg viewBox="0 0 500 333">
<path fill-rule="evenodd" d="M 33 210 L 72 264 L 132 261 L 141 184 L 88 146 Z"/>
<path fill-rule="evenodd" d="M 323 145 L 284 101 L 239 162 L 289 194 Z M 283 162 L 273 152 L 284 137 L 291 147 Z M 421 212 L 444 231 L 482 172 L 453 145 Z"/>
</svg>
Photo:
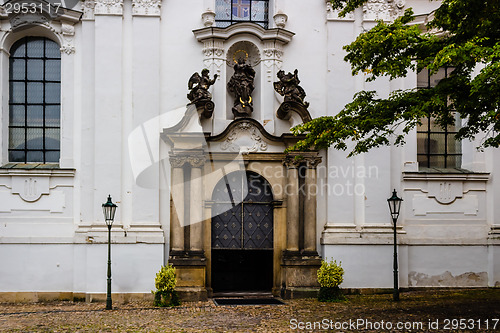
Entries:
<svg viewBox="0 0 500 333">
<path fill-rule="evenodd" d="M 304 202 L 304 252 L 317 255 L 316 251 L 316 195 L 318 191 L 316 167 L 321 162 L 321 157 L 311 156 L 305 158 L 307 170 L 305 179 Z"/>
</svg>

